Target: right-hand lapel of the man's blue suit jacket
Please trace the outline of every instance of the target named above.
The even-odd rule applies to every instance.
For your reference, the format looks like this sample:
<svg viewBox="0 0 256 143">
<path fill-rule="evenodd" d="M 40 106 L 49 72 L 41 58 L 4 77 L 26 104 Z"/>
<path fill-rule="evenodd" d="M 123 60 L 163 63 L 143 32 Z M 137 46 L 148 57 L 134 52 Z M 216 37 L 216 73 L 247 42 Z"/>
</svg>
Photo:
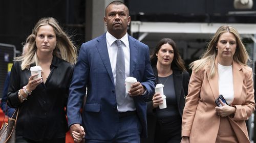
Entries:
<svg viewBox="0 0 256 143">
<path fill-rule="evenodd" d="M 133 76 L 135 66 L 138 58 L 138 47 L 136 42 L 128 35 L 129 46 L 130 46 L 130 76 Z"/>
</svg>

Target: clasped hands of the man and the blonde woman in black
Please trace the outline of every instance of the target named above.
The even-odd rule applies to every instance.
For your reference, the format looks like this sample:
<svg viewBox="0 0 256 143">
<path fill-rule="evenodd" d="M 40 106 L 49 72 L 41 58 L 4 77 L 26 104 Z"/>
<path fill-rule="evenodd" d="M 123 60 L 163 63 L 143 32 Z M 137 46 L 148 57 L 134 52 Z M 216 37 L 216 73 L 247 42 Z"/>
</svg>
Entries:
<svg viewBox="0 0 256 143">
<path fill-rule="evenodd" d="M 71 133 L 71 136 L 74 138 L 75 143 L 81 142 L 82 139 L 84 138 L 84 135 L 86 135 L 86 132 L 84 132 L 84 128 L 80 126 L 80 124 L 71 125 L 70 133 Z"/>
</svg>

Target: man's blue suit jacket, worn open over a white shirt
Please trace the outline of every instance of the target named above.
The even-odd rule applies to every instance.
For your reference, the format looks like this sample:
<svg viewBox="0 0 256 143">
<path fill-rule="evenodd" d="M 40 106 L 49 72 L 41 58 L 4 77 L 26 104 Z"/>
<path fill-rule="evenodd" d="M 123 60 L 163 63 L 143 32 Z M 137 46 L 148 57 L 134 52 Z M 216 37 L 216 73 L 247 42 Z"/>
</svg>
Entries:
<svg viewBox="0 0 256 143">
<path fill-rule="evenodd" d="M 146 102 L 155 91 L 155 76 L 150 63 L 148 46 L 129 36 L 130 76 L 137 78 L 148 94 L 134 97 L 137 115 L 142 125 L 141 136 L 147 134 Z M 86 95 L 82 117 L 80 108 Z M 68 124 L 82 124 L 86 138 L 112 139 L 118 131 L 118 112 L 114 77 L 106 46 L 105 34 L 83 43 L 75 65 L 68 99 Z"/>
</svg>

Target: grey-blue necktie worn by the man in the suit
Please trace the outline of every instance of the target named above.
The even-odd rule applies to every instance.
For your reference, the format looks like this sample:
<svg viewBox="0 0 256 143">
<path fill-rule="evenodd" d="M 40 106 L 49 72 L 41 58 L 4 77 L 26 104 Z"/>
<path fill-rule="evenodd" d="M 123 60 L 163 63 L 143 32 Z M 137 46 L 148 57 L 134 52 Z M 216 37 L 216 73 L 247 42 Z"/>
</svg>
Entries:
<svg viewBox="0 0 256 143">
<path fill-rule="evenodd" d="M 117 56 L 116 56 L 116 101 L 117 105 L 122 105 L 125 101 L 125 63 L 124 53 L 122 48 L 122 41 L 116 40 L 117 44 Z"/>
</svg>

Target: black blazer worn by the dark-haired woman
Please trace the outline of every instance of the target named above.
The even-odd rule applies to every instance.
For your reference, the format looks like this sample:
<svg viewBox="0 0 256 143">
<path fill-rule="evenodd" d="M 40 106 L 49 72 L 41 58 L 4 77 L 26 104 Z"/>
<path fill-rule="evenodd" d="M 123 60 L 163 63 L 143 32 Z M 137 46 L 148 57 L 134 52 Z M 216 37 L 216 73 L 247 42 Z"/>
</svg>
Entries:
<svg viewBox="0 0 256 143">
<path fill-rule="evenodd" d="M 156 66 L 153 67 L 154 75 L 156 77 L 156 82 L 158 83 L 158 73 Z M 173 68 L 174 77 L 174 89 L 177 99 L 177 105 L 179 109 L 180 116 L 182 117 L 183 108 L 185 106 L 185 98 L 188 91 L 189 83 L 189 73 L 187 71 L 181 71 L 177 68 Z M 148 99 L 147 102 L 147 138 L 143 138 L 141 142 L 150 143 L 154 142 L 155 139 L 155 128 L 157 123 L 156 118 L 156 108 L 153 109 L 152 97 Z"/>
</svg>

